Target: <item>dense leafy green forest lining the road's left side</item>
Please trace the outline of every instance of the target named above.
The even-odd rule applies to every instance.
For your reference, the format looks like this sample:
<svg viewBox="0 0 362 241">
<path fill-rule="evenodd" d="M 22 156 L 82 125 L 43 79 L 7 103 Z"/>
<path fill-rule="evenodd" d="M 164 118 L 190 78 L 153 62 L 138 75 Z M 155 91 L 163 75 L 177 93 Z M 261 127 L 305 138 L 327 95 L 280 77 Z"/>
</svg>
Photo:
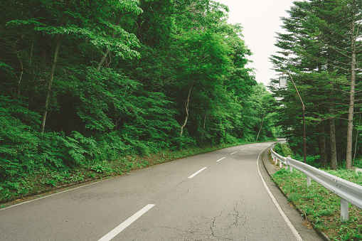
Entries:
<svg viewBox="0 0 362 241">
<path fill-rule="evenodd" d="M 242 25 L 228 23 L 228 6 L 9 0 L 0 8 L 2 201 L 36 191 L 31 179 L 79 181 L 80 169 L 95 177 L 115 160 L 129 169 L 134 156 L 275 140 L 277 103 L 246 67 L 252 51 Z"/>
</svg>

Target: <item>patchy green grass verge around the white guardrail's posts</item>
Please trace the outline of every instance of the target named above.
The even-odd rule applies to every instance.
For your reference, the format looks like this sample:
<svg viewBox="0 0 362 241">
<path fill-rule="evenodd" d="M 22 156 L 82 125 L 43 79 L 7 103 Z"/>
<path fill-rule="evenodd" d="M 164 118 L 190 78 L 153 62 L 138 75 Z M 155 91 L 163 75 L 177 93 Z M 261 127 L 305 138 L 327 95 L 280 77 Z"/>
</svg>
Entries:
<svg viewBox="0 0 362 241">
<path fill-rule="evenodd" d="M 362 184 L 362 173 L 351 170 L 330 171 L 358 185 Z M 362 240 L 362 210 L 349 205 L 349 220 L 341 221 L 341 199 L 328 189 L 312 181 L 307 186 L 306 176 L 300 171 L 292 172 L 284 168 L 272 175 L 289 202 L 307 215 L 316 230 L 324 232 L 331 240 Z"/>
</svg>

